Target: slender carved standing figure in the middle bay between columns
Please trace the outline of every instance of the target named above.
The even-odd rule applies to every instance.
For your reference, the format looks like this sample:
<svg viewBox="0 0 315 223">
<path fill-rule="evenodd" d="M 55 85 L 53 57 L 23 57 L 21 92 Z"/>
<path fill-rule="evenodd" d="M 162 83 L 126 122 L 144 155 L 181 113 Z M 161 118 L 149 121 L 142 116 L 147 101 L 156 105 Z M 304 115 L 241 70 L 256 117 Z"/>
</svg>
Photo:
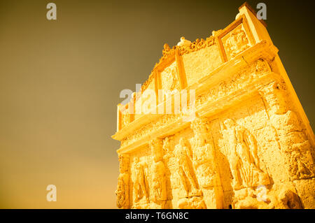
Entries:
<svg viewBox="0 0 315 223">
<path fill-rule="evenodd" d="M 193 153 L 186 145 L 185 138 L 179 139 L 179 144 L 177 144 L 174 148 L 174 155 L 179 178 L 181 180 L 181 184 L 186 190 L 187 196 L 200 194 L 191 161 Z"/>
</svg>

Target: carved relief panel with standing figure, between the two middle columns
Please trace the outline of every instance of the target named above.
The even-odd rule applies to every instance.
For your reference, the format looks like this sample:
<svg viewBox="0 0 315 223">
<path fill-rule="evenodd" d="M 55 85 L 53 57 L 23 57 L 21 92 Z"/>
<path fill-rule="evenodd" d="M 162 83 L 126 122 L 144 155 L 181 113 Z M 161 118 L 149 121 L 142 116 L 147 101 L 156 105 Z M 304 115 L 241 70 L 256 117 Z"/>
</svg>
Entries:
<svg viewBox="0 0 315 223">
<path fill-rule="evenodd" d="M 173 208 L 206 208 L 194 166 L 191 141 L 193 131 L 188 128 L 163 139 L 163 159 L 167 164 L 168 199 Z"/>
</svg>

